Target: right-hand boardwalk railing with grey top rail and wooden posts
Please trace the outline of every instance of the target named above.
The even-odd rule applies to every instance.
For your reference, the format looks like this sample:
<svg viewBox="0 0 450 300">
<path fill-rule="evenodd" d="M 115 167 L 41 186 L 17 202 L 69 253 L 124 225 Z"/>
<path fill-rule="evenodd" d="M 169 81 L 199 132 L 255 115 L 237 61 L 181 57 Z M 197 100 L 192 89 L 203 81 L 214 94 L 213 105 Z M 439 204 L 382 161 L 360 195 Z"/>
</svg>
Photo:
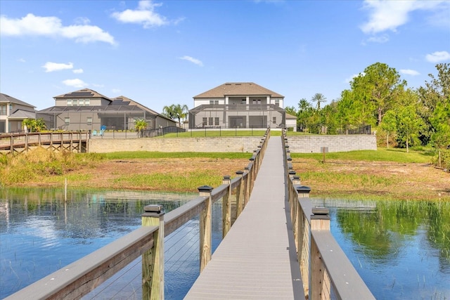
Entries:
<svg viewBox="0 0 450 300">
<path fill-rule="evenodd" d="M 300 176 L 293 170 L 285 131 L 281 139 L 285 149 L 290 217 L 304 294 L 314 300 L 375 299 L 330 233 L 328 209 L 312 207 L 309 199 L 311 188 L 301 185 Z"/>
</svg>

